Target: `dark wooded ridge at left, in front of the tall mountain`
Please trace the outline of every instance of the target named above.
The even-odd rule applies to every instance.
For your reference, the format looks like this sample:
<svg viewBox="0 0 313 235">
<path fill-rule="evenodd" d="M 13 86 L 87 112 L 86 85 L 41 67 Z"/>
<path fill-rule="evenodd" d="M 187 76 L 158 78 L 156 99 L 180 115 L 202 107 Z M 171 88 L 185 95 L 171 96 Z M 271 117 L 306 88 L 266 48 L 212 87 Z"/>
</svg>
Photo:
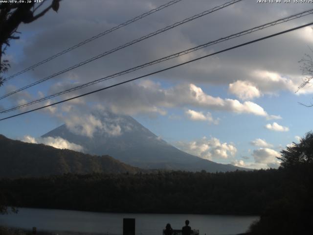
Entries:
<svg viewBox="0 0 313 235">
<path fill-rule="evenodd" d="M 0 177 L 79 173 L 135 173 L 140 169 L 110 156 L 91 156 L 44 144 L 10 140 L 0 135 Z"/>
</svg>

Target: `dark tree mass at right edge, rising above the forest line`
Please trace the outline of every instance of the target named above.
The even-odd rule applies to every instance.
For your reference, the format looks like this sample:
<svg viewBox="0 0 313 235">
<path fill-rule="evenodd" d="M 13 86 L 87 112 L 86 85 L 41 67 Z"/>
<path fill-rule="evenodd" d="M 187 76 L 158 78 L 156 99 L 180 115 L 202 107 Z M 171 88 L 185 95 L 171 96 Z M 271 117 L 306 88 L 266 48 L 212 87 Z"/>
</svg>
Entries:
<svg viewBox="0 0 313 235">
<path fill-rule="evenodd" d="M 268 204 L 251 234 L 313 234 L 313 133 L 281 151 L 283 196 Z"/>
</svg>

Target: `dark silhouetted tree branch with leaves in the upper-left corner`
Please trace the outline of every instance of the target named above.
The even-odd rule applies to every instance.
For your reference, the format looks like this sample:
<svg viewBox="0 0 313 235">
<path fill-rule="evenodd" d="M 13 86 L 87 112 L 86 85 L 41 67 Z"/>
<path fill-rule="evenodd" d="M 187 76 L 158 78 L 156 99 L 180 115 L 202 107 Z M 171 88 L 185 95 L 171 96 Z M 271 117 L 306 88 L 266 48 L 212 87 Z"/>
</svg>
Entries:
<svg viewBox="0 0 313 235">
<path fill-rule="evenodd" d="M 0 3 L 0 86 L 3 83 L 2 73 L 10 67 L 8 60 L 2 60 L 2 55 L 10 46 L 10 40 L 19 39 L 17 29 L 20 24 L 29 24 L 44 16 L 50 9 L 58 11 L 61 0 L 52 0 L 45 9 L 41 6 L 46 0 L 35 4 L 35 1 L 8 1 Z M 37 12 L 40 11 L 40 12 Z"/>
</svg>

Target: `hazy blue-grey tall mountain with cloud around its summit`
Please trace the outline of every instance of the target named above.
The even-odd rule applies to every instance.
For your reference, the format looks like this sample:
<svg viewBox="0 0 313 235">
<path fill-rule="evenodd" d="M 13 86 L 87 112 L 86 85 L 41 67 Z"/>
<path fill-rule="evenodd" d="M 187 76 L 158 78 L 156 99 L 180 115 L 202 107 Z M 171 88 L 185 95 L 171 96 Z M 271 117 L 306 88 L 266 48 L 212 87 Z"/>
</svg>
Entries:
<svg viewBox="0 0 313 235">
<path fill-rule="evenodd" d="M 185 153 L 161 140 L 134 118 L 125 115 L 105 113 L 93 114 L 106 127 L 120 130 L 110 134 L 108 128 L 97 129 L 92 137 L 83 135 L 80 126 L 62 125 L 42 137 L 61 137 L 84 147 L 84 152 L 95 155 L 108 154 L 115 159 L 137 167 L 152 169 L 175 169 L 208 172 L 246 170 L 231 164 L 218 164 Z M 86 123 L 87 124 L 87 123 Z M 84 124 L 81 124 L 84 125 Z"/>
</svg>

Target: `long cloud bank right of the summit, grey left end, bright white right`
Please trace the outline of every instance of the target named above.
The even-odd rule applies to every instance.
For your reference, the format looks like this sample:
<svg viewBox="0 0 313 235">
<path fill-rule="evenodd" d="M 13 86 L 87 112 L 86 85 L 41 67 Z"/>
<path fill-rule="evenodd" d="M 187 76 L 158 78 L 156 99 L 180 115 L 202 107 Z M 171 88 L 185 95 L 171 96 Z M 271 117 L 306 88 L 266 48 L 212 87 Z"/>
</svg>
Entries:
<svg viewBox="0 0 313 235">
<path fill-rule="evenodd" d="M 92 96 L 92 101 L 102 102 L 114 113 L 160 114 L 165 115 L 171 108 L 201 108 L 219 110 L 236 114 L 251 114 L 269 117 L 268 113 L 258 104 L 251 101 L 240 102 L 211 96 L 195 84 L 180 84 L 170 88 L 162 88 L 152 81 L 145 83 L 130 83 L 118 86 L 105 93 Z"/>
</svg>

